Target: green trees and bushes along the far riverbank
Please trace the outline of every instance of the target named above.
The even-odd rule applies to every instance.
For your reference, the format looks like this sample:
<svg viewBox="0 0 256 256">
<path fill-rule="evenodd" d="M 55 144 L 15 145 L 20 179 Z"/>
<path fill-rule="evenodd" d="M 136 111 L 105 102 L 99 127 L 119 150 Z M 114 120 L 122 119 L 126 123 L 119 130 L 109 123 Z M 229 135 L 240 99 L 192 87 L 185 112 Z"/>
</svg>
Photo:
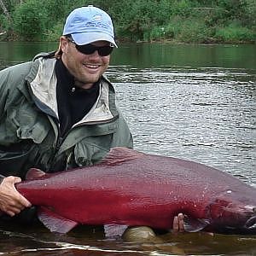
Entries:
<svg viewBox="0 0 256 256">
<path fill-rule="evenodd" d="M 0 0 L 0 40 L 58 40 L 89 4 L 111 15 L 119 41 L 256 43 L 255 0 Z"/>
</svg>

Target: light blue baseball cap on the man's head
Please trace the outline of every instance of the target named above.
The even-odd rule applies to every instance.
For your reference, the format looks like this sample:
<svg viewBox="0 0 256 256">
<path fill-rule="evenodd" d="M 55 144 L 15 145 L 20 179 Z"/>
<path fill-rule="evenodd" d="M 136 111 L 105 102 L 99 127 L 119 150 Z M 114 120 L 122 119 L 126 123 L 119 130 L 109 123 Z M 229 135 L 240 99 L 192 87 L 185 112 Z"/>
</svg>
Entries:
<svg viewBox="0 0 256 256">
<path fill-rule="evenodd" d="M 110 16 L 92 5 L 74 9 L 67 16 L 62 35 L 71 35 L 74 42 L 79 45 L 108 41 L 118 47 L 114 41 Z"/>
</svg>

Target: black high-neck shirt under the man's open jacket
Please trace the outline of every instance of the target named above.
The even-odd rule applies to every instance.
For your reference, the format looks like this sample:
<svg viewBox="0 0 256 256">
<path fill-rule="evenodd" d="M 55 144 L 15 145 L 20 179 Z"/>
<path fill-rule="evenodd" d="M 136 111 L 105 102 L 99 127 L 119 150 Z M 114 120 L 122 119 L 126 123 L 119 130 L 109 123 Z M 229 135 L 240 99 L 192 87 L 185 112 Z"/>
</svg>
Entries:
<svg viewBox="0 0 256 256">
<path fill-rule="evenodd" d="M 90 89 L 82 89 L 74 84 L 74 77 L 68 72 L 61 59 L 56 61 L 57 104 L 60 121 L 61 137 L 90 111 L 99 95 L 100 82 Z"/>
</svg>

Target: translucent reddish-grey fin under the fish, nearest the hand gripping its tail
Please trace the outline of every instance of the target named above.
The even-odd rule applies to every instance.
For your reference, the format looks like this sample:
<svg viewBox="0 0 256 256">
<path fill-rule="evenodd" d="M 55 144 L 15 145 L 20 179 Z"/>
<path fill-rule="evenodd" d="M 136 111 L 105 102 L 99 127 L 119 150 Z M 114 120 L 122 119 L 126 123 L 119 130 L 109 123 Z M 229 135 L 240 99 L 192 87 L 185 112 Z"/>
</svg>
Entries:
<svg viewBox="0 0 256 256">
<path fill-rule="evenodd" d="M 72 230 L 78 223 L 52 212 L 47 207 L 40 207 L 38 209 L 38 218 L 51 231 L 61 234 Z"/>
</svg>

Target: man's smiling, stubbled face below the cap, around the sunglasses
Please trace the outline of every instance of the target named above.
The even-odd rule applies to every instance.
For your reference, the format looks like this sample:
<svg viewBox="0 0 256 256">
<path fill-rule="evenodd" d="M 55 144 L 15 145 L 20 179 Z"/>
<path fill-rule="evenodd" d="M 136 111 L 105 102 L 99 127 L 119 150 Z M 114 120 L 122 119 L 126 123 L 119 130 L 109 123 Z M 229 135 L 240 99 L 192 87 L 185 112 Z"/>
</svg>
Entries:
<svg viewBox="0 0 256 256">
<path fill-rule="evenodd" d="M 92 43 L 96 46 L 109 45 L 106 41 Z M 76 49 L 75 44 L 65 37 L 61 37 L 62 61 L 68 71 L 74 76 L 77 86 L 89 89 L 108 68 L 110 55 L 101 56 L 96 50 L 85 55 Z"/>
</svg>

